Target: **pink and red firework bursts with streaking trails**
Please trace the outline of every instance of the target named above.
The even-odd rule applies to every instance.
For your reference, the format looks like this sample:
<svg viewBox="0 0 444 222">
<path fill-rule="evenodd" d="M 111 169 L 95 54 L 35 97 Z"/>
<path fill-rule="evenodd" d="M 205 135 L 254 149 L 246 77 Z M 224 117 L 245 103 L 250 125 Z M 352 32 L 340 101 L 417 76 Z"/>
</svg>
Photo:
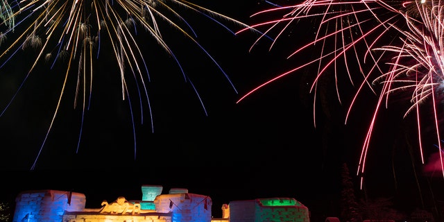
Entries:
<svg viewBox="0 0 444 222">
<path fill-rule="evenodd" d="M 271 12 L 273 12 L 272 15 L 278 15 L 278 19 L 266 17 L 265 22 L 250 25 L 250 27 L 259 30 L 264 29 L 263 33 L 267 35 L 271 35 L 270 33 L 273 32 L 278 33 L 275 35 L 275 41 L 271 43 L 271 47 L 274 46 L 276 40 L 283 37 L 283 33 L 291 25 L 297 27 L 296 22 L 318 19 L 314 40 L 308 44 L 302 44 L 288 58 L 296 54 L 299 55 L 304 50 L 312 49 L 317 44 L 321 44 L 321 52 L 314 60 L 278 74 L 278 76 L 250 90 L 241 96 L 237 103 L 275 80 L 315 63 L 318 64 L 318 71 L 310 89 L 310 92 L 315 94 L 314 100 L 316 101 L 316 85 L 319 78 L 325 75 L 325 70 L 333 69 L 336 94 L 341 103 L 337 78 L 337 74 L 341 70 L 337 62 L 341 59 L 352 85 L 355 85 L 355 80 L 361 76 L 361 84 L 357 87 L 350 102 L 345 115 L 345 123 L 347 123 L 352 107 L 364 86 L 368 86 L 372 92 L 379 94 L 359 158 L 358 175 L 361 175 L 361 181 L 377 114 L 381 108 L 388 108 L 391 94 L 409 94 L 411 105 L 404 113 L 404 117 L 416 110 L 414 113 L 417 115 L 418 121 L 419 153 L 422 163 L 424 164 L 424 157 L 420 128 L 425 123 L 420 122 L 422 115 L 420 110 L 426 103 L 431 105 L 433 110 L 434 123 L 429 126 L 434 127 L 436 144 L 441 149 L 441 133 L 438 122 L 440 114 L 437 105 L 443 100 L 441 91 L 444 79 L 444 56 L 442 53 L 444 47 L 444 2 L 430 0 L 305 0 L 292 6 L 272 7 L 257 12 L 252 17 L 270 15 Z M 246 30 L 248 28 L 241 29 L 238 33 Z M 253 46 L 261 39 L 262 37 L 257 38 Z M 359 71 L 353 72 L 350 61 L 357 64 Z M 314 122 L 316 126 L 316 121 Z M 441 153 L 439 155 L 441 171 L 444 176 L 443 156 Z"/>
</svg>

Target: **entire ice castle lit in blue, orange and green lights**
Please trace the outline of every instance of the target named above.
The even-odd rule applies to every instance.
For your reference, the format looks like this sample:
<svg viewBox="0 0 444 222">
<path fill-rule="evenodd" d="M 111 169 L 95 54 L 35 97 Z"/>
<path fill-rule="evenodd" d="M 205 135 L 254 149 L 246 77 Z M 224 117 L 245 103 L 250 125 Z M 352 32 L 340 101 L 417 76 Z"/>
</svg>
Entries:
<svg viewBox="0 0 444 222">
<path fill-rule="evenodd" d="M 222 205 L 222 218 L 212 218 L 210 196 L 162 186 L 142 186 L 142 200 L 119 196 L 100 208 L 85 209 L 84 194 L 69 191 L 24 191 L 16 198 L 13 222 L 309 222 L 309 210 L 293 198 L 236 200 Z"/>
</svg>

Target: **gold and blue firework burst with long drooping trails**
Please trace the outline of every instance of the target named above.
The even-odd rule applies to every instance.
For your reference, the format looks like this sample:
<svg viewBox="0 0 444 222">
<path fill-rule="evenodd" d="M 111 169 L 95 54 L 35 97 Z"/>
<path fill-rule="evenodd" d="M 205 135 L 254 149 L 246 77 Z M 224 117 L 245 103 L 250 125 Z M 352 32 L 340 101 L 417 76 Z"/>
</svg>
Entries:
<svg viewBox="0 0 444 222">
<path fill-rule="evenodd" d="M 246 24 L 221 15 L 207 8 L 197 6 L 194 3 L 183 0 L 24 0 L 24 1 L 0 1 L 0 40 L 4 47 L 0 52 L 0 63 L 6 65 L 10 62 L 20 49 L 37 49 L 35 62 L 31 65 L 28 74 L 22 80 L 17 91 L 12 96 L 6 107 L 0 112 L 0 117 L 6 112 L 12 101 L 22 89 L 24 83 L 31 75 L 35 67 L 42 60 L 53 60 L 51 69 L 56 61 L 67 58 L 65 79 L 60 89 L 56 109 L 46 135 L 35 157 L 35 162 L 31 169 L 35 169 L 37 160 L 42 153 L 46 139 L 49 137 L 53 123 L 60 109 L 60 102 L 65 94 L 67 80 L 73 73 L 73 67 L 77 67 L 76 94 L 74 108 L 77 103 L 82 103 L 81 126 L 76 153 L 80 146 L 80 137 L 83 129 L 85 110 L 89 109 L 92 98 L 93 69 L 95 58 L 99 57 L 101 38 L 110 40 L 110 49 L 117 60 L 119 75 L 121 78 L 122 99 L 128 99 L 130 114 L 133 122 L 133 135 L 135 140 L 135 120 L 133 117 L 133 106 L 130 102 L 130 91 L 128 90 L 128 80 L 135 82 L 137 88 L 139 106 L 142 110 L 142 101 L 148 103 L 148 111 L 151 117 L 151 129 L 153 130 L 153 115 L 151 113 L 151 103 L 148 98 L 147 83 L 151 78 L 148 74 L 148 64 L 145 60 L 143 49 L 140 48 L 135 35 L 138 35 L 137 27 L 151 36 L 157 45 L 166 51 L 176 65 L 180 68 L 185 83 L 189 83 L 196 93 L 202 108 L 207 114 L 203 101 L 196 86 L 191 82 L 191 78 L 186 74 L 180 65 L 180 60 L 176 58 L 169 43 L 164 40 L 162 33 L 175 31 L 180 37 L 185 38 L 191 44 L 203 51 L 212 60 L 216 67 L 228 80 L 234 92 L 237 89 L 225 74 L 225 71 L 210 55 L 210 53 L 196 39 L 197 35 L 191 24 L 187 22 L 187 17 L 182 14 L 184 11 L 194 12 L 196 15 L 204 15 L 212 19 L 216 24 L 221 25 L 226 30 L 234 33 L 221 21 L 234 24 L 237 27 L 248 27 Z M 184 13 L 185 14 L 185 13 Z M 189 16 L 189 15 L 188 15 Z M 18 22 L 17 22 L 18 21 Z M 162 24 L 168 24 L 167 27 Z M 19 33 L 14 33 L 19 29 Z M 11 35 L 12 42 L 6 42 L 6 35 Z M 12 52 L 12 54 L 10 54 Z M 96 53 L 95 53 L 96 52 Z M 94 58 L 95 57 L 95 58 Z M 75 62 L 78 65 L 75 66 Z M 87 95 L 89 94 L 89 95 Z M 141 119 L 143 124 L 143 113 Z M 136 144 L 134 143 L 134 157 L 136 158 Z"/>
</svg>

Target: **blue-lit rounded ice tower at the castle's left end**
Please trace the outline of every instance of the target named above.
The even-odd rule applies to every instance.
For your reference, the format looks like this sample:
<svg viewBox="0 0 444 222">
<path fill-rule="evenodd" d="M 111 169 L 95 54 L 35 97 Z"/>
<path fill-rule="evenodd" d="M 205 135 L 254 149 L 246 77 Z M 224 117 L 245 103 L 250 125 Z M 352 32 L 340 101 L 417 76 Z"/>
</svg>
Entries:
<svg viewBox="0 0 444 222">
<path fill-rule="evenodd" d="M 60 222 L 66 211 L 85 209 L 85 194 L 39 190 L 21 192 L 15 199 L 13 222 Z"/>
</svg>

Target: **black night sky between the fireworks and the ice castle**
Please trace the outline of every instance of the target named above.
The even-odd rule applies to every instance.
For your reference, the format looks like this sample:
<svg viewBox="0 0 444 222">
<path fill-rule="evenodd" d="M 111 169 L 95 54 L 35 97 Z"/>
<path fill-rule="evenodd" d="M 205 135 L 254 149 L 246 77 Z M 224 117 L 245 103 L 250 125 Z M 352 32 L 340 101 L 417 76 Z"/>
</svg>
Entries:
<svg viewBox="0 0 444 222">
<path fill-rule="evenodd" d="M 249 15 L 270 7 L 262 1 L 214 1 L 212 5 L 200 5 L 247 24 L 253 22 Z M 191 20 L 200 44 L 219 62 L 238 93 L 195 45 L 178 33 L 165 35 L 199 90 L 207 110 L 205 115 L 198 96 L 185 82 L 174 60 L 140 31 L 139 46 L 147 51 L 151 75 L 148 93 L 154 132 L 146 100 L 141 109 L 137 91 L 130 87 L 134 139 L 129 101 L 122 100 L 117 66 L 106 47 L 109 42 L 104 41 L 94 68 L 92 101 L 85 112 L 78 152 L 82 103 L 74 109 L 76 74 L 72 74 L 36 169 L 31 171 L 65 76 L 62 67 L 51 70 L 41 62 L 0 117 L 1 180 L 10 189 L 3 189 L 0 201 L 13 200 L 19 191 L 28 189 L 58 189 L 83 193 L 87 207 L 99 208 L 102 200 L 112 201 L 118 196 L 141 199 L 142 185 L 162 185 L 164 194 L 171 187 L 182 187 L 190 193 L 210 196 L 214 216 L 220 216 L 221 205 L 231 200 L 272 197 L 296 198 L 318 215 L 339 216 L 340 167 L 346 162 L 358 196 L 401 196 L 398 200 L 404 202 L 403 207 L 416 207 L 417 204 L 405 204 L 417 203 L 419 198 L 418 187 L 411 182 L 415 179 L 411 157 L 419 164 L 413 138 L 416 134 L 411 133 L 416 123 L 402 120 L 403 108 L 395 104 L 381 114 L 375 126 L 377 139 L 368 154 L 366 187 L 359 190 L 355 171 L 374 109 L 372 102 L 377 96 L 364 93 L 345 125 L 353 86 L 345 80 L 341 83 L 345 96 L 343 103 L 339 103 L 334 79 L 326 78 L 320 86 L 321 100 L 316 102 L 315 127 L 314 95 L 309 92 L 314 71 L 307 69 L 236 103 L 257 85 L 312 55 L 286 60 L 299 39 L 284 40 L 271 51 L 271 42 L 265 40 L 249 52 L 257 37 L 254 33 L 234 36 L 203 16 Z M 239 28 L 230 27 L 233 31 Z M 0 69 L 0 108 L 8 105 L 22 83 L 33 55 L 33 51 L 20 51 L 17 58 Z M 409 131 L 411 127 L 413 130 Z M 409 146 L 413 147 L 413 154 L 409 153 Z M 398 173 L 396 181 L 393 169 Z M 416 165 L 416 173 L 424 178 L 420 169 Z M 442 178 L 437 178 L 427 177 L 430 187 L 441 185 Z M 422 187 L 429 189 L 427 186 Z M 440 197 L 443 198 L 436 194 L 436 198 Z"/>
</svg>

